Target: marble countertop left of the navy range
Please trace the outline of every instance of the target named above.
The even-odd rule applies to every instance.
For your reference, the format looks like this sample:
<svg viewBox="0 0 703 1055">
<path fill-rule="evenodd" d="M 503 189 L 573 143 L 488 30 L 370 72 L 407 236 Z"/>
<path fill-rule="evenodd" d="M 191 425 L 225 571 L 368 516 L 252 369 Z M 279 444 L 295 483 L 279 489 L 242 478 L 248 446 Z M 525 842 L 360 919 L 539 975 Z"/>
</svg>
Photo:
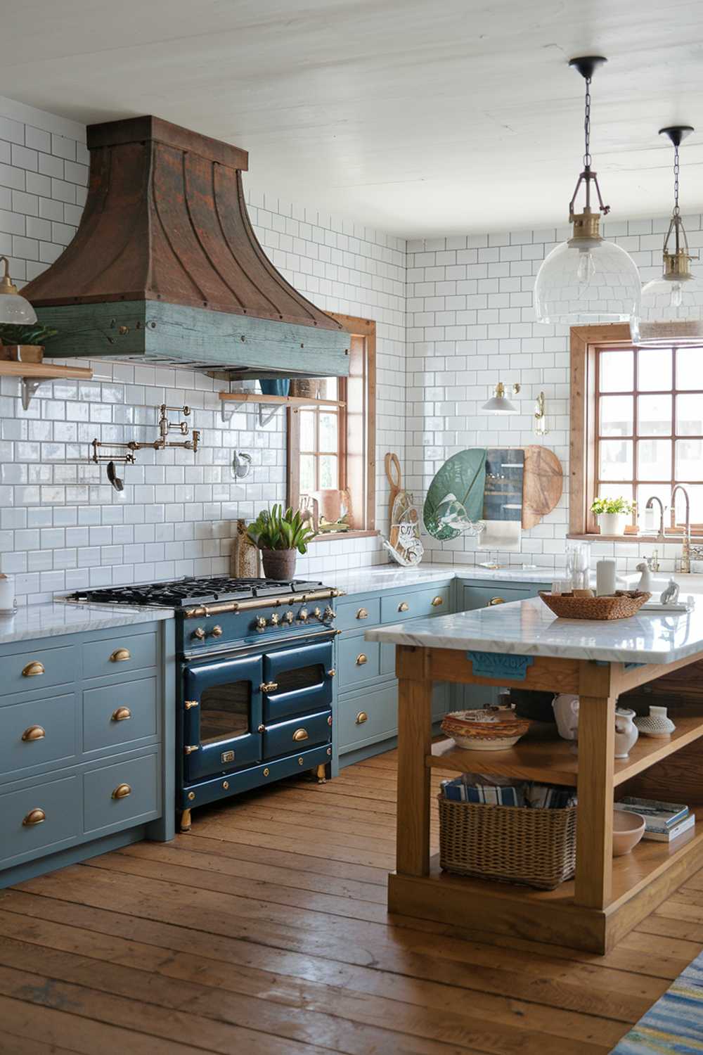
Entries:
<svg viewBox="0 0 703 1055">
<path fill-rule="evenodd" d="M 163 608 L 101 607 L 99 605 L 66 605 L 54 601 L 27 605 L 15 615 L 0 616 L 0 645 L 79 634 L 84 630 L 129 627 L 137 622 L 173 619 L 173 611 Z"/>
</svg>

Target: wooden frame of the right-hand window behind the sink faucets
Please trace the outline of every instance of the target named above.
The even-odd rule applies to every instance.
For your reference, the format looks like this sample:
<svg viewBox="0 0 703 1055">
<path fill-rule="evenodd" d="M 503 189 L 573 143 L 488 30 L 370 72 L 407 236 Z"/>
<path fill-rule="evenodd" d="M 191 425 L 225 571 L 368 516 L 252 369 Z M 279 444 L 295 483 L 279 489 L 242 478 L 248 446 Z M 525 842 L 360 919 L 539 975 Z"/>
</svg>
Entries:
<svg viewBox="0 0 703 1055">
<path fill-rule="evenodd" d="M 672 341 L 672 348 L 676 342 Z M 613 323 L 604 326 L 572 326 L 570 331 L 570 417 L 569 417 L 569 538 L 600 539 L 606 541 L 627 541 L 627 542 L 651 542 L 661 541 L 659 535 L 640 535 L 637 528 L 631 525 L 630 531 L 625 535 L 601 535 L 598 531 L 595 516 L 590 512 L 591 503 L 595 497 L 595 482 L 598 479 L 599 459 L 599 427 L 597 421 L 598 414 L 598 353 L 599 351 L 631 348 L 632 340 L 629 326 L 622 323 Z M 673 392 L 673 389 L 671 389 Z M 618 392 L 602 395 L 619 395 Z M 627 395 L 630 395 L 627 392 Z M 638 392 L 633 389 L 636 399 Z M 646 395 L 646 394 L 645 394 Z M 636 411 L 637 413 L 637 411 Z M 672 408 L 676 414 L 676 407 Z M 637 459 L 637 419 L 633 422 L 636 438 L 633 441 L 632 457 Z M 668 437 L 664 437 L 667 439 Z M 672 458 L 676 457 L 676 423 L 672 422 Z M 694 439 L 696 437 L 692 437 Z M 658 482 L 638 481 L 637 460 L 632 466 L 634 480 L 633 498 L 637 500 L 637 484 L 651 483 L 657 486 Z M 676 482 L 676 481 L 675 481 Z M 660 484 L 661 485 L 661 481 Z M 673 485 L 673 484 L 672 484 Z M 685 484 L 684 484 L 685 485 Z M 665 524 L 667 538 L 676 541 L 681 536 L 682 530 L 673 523 L 673 512 L 671 512 L 671 523 Z M 691 531 L 691 535 L 694 532 Z M 696 537 L 700 537 L 700 534 Z"/>
</svg>

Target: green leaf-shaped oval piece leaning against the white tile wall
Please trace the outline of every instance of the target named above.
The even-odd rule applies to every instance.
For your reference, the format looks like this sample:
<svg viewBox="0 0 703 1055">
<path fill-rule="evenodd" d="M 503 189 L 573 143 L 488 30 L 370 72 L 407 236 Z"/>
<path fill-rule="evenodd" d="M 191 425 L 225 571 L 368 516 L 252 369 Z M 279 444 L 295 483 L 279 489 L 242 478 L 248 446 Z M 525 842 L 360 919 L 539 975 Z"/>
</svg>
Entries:
<svg viewBox="0 0 703 1055">
<path fill-rule="evenodd" d="M 486 448 L 471 447 L 452 455 L 436 473 L 427 492 L 423 519 L 433 538 L 457 538 L 466 521 L 481 519 L 486 485 Z"/>
</svg>

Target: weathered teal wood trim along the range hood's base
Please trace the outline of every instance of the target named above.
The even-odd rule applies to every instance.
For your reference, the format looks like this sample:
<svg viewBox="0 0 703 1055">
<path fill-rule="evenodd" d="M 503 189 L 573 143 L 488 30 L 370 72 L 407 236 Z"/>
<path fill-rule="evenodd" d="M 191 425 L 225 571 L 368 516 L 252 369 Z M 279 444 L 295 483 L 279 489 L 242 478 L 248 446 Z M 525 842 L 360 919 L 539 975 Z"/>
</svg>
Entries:
<svg viewBox="0 0 703 1055">
<path fill-rule="evenodd" d="M 346 377 L 349 334 L 160 301 L 37 308 L 59 332 L 46 358 L 135 359 L 255 376 Z"/>
</svg>

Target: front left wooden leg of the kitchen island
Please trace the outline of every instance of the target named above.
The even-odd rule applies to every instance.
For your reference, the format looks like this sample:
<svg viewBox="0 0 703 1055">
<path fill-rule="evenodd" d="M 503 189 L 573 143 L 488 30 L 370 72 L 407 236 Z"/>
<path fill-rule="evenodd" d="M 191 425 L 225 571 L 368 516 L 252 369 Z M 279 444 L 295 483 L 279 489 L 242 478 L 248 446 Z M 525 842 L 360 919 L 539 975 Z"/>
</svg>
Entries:
<svg viewBox="0 0 703 1055">
<path fill-rule="evenodd" d="M 430 870 L 430 770 L 432 683 L 398 683 L 398 778 L 396 870 L 427 876 Z"/>
</svg>

